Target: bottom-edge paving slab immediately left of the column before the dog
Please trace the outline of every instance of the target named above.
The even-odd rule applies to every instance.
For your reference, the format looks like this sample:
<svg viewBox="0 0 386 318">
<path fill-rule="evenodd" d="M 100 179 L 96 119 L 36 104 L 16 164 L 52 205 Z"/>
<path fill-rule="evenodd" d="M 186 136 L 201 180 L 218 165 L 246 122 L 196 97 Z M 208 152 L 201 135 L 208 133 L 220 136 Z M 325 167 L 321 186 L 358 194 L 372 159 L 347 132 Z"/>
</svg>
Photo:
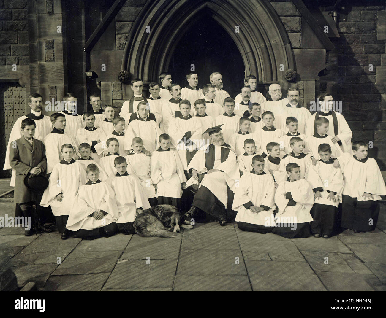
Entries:
<svg viewBox="0 0 386 318">
<path fill-rule="evenodd" d="M 100 291 L 110 273 L 51 276 L 42 291 Z"/>
</svg>

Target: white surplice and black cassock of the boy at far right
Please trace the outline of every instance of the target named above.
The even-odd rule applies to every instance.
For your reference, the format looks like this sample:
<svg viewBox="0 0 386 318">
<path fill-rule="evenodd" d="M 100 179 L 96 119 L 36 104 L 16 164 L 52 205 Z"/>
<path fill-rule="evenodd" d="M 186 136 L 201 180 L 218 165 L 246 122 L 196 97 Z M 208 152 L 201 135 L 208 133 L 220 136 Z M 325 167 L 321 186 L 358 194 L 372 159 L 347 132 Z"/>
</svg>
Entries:
<svg viewBox="0 0 386 318">
<path fill-rule="evenodd" d="M 378 221 L 379 200 L 381 195 L 386 195 L 381 170 L 374 158 L 359 160 L 349 153 L 343 153 L 339 162 L 345 178 L 341 226 L 358 231 L 373 231 Z M 364 192 L 370 193 L 372 199 L 366 199 Z"/>
</svg>

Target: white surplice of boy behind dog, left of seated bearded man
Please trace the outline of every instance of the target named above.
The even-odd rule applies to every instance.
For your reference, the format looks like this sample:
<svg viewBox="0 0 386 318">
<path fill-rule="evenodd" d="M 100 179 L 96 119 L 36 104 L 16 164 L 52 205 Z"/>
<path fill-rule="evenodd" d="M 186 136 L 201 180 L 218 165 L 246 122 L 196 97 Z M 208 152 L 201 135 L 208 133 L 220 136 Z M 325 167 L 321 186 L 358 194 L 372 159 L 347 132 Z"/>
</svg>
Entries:
<svg viewBox="0 0 386 318">
<path fill-rule="evenodd" d="M 186 182 L 184 168 L 177 151 L 158 148 L 151 154 L 151 180 L 159 196 L 181 198 L 181 183 Z"/>
</svg>

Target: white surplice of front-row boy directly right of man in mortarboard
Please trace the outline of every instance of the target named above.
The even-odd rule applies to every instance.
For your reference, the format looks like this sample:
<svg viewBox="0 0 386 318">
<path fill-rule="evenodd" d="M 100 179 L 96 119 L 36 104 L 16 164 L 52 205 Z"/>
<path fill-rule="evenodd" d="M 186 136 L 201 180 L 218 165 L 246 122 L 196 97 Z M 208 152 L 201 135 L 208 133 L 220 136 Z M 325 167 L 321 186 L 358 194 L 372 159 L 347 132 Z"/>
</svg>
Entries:
<svg viewBox="0 0 386 318">
<path fill-rule="evenodd" d="M 273 210 L 276 209 L 274 195 L 275 185 L 269 173 L 257 174 L 253 169 L 244 173 L 236 187 L 232 205 L 232 209 L 237 211 L 235 221 L 260 225 L 256 227 L 256 232 L 271 232 L 274 226 Z M 252 205 L 261 206 L 264 210 L 252 212 L 249 210 Z"/>
</svg>

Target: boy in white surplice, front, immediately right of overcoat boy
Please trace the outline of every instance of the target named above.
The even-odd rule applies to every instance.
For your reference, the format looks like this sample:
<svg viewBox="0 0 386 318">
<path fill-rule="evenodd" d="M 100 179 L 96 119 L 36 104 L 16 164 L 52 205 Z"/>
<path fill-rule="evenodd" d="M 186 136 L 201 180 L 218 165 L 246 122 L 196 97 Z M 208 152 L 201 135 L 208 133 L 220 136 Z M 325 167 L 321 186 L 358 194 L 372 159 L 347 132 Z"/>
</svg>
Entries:
<svg viewBox="0 0 386 318">
<path fill-rule="evenodd" d="M 55 215 L 61 239 L 68 238 L 70 232 L 66 229 L 68 215 L 81 185 L 87 182 L 86 173 L 78 161 L 73 159 L 74 147 L 69 143 L 61 146 L 61 157 L 49 177 L 48 188 L 44 190 L 40 205 L 51 206 Z"/>
</svg>

